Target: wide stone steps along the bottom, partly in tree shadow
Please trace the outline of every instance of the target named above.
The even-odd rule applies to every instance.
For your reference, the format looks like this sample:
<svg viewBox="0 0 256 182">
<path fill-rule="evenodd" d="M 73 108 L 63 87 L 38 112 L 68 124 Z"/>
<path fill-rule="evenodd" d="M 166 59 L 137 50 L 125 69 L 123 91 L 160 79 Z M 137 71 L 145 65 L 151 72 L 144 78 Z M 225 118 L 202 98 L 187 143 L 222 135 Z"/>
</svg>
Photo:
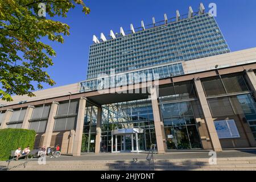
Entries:
<svg viewBox="0 0 256 182">
<path fill-rule="evenodd" d="M 39 165 L 37 161 L 29 161 L 22 165 L 24 161 L 14 161 L 9 165 L 10 170 L 142 170 L 150 171 L 147 160 L 82 160 L 82 161 L 53 161 L 47 158 L 45 165 Z M 6 170 L 7 163 L 0 162 L 0 170 Z M 256 157 L 243 158 L 218 158 L 216 165 L 210 165 L 208 159 L 168 159 L 155 160 L 154 168 L 158 170 L 256 170 Z"/>
</svg>

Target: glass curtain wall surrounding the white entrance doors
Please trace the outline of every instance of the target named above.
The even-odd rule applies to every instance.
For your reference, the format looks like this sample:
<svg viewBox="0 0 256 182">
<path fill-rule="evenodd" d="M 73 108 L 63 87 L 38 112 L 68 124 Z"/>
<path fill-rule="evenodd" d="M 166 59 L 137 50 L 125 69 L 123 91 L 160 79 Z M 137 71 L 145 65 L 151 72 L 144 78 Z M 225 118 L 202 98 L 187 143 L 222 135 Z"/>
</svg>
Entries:
<svg viewBox="0 0 256 182">
<path fill-rule="evenodd" d="M 102 106 L 101 151 L 111 152 L 112 130 L 130 128 L 144 129 L 144 133 L 138 135 L 140 150 L 149 150 L 151 144 L 156 144 L 151 101 L 138 100 Z"/>
</svg>

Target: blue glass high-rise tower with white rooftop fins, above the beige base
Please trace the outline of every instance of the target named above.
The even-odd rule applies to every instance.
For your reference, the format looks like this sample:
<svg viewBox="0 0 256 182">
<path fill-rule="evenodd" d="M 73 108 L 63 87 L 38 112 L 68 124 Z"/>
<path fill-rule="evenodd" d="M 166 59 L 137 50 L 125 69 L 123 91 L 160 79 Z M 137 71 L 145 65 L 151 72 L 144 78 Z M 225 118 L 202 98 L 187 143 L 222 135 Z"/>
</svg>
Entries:
<svg viewBox="0 0 256 182">
<path fill-rule="evenodd" d="M 203 6 L 203 5 L 201 5 Z M 101 41 L 93 36 L 90 46 L 87 81 L 82 82 L 85 90 L 96 90 L 102 76 L 129 73 L 152 75 L 159 78 L 183 75 L 182 61 L 220 55 L 230 52 L 214 17 L 201 11 L 153 23 L 130 31 L 120 28 L 119 34 L 110 31 L 110 36 L 101 33 Z M 135 31 L 136 30 L 136 31 Z M 97 81 L 98 79 L 98 81 Z M 118 76 L 115 78 L 118 80 Z M 139 82 L 140 80 L 134 80 Z M 115 85 L 114 85 L 115 86 Z"/>
</svg>

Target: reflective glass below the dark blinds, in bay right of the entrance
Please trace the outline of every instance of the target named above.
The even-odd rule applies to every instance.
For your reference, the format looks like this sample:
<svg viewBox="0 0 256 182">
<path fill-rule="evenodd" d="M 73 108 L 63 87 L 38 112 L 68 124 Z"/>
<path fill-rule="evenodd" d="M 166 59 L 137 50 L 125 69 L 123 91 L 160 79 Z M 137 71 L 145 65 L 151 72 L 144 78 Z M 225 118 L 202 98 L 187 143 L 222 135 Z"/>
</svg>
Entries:
<svg viewBox="0 0 256 182">
<path fill-rule="evenodd" d="M 202 148 L 190 101 L 161 104 L 167 149 Z"/>
</svg>

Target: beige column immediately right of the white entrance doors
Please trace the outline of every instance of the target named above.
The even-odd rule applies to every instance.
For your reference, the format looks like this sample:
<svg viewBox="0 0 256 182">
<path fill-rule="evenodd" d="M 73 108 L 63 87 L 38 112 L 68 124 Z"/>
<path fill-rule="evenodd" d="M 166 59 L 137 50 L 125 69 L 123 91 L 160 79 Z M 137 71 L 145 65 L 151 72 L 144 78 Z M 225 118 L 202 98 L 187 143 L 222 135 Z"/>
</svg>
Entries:
<svg viewBox="0 0 256 182">
<path fill-rule="evenodd" d="M 158 93 L 156 88 L 150 88 L 151 93 L 151 103 L 152 103 L 152 110 L 154 116 L 154 123 L 155 123 L 155 137 L 156 137 L 156 145 L 158 147 L 158 154 L 165 153 L 165 138 L 163 132 L 163 122 L 161 121 L 160 117 L 160 109 L 158 105 Z"/>
</svg>

